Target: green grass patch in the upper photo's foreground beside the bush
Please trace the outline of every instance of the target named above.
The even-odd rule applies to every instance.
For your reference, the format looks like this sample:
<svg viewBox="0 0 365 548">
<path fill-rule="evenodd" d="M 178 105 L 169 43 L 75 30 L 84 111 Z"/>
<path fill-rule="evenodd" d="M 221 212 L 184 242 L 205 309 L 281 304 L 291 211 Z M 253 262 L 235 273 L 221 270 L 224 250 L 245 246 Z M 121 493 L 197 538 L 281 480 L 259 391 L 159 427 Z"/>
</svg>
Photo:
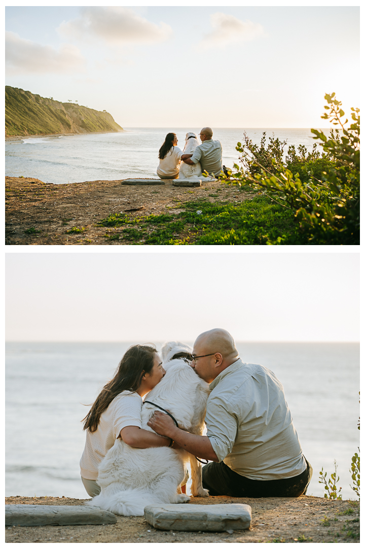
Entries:
<svg viewBox="0 0 365 548">
<path fill-rule="evenodd" d="M 114 214 L 98 223 L 106 238 L 140 245 L 247 246 L 302 243 L 294 214 L 263 196 L 240 204 L 205 200 L 178 203 L 178 214 L 133 218 Z M 196 213 L 201 211 L 201 213 Z M 292 241 L 282 241 L 283 235 Z"/>
</svg>

